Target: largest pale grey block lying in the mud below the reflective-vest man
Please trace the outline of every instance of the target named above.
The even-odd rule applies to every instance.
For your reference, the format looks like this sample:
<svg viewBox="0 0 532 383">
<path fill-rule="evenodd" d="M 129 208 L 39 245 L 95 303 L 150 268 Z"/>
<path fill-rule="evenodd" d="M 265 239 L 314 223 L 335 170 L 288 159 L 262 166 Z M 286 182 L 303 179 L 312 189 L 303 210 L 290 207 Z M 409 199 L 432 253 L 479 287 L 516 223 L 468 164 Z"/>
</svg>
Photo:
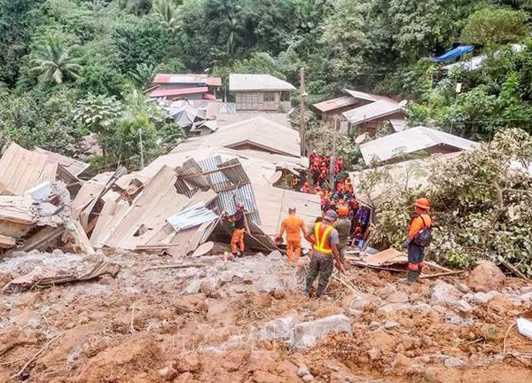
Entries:
<svg viewBox="0 0 532 383">
<path fill-rule="evenodd" d="M 295 350 L 314 346 L 317 339 L 328 333 L 347 332 L 352 334 L 351 322 L 345 315 L 334 315 L 312 322 L 296 324 L 290 337 L 290 344 Z"/>
</svg>

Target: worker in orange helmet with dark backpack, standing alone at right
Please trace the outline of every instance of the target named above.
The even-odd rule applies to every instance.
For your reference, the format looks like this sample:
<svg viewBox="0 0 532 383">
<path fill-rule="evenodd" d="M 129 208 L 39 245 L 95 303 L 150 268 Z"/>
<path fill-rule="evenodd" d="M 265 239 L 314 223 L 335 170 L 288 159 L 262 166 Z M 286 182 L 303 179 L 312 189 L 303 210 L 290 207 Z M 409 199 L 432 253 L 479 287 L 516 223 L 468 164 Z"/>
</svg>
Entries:
<svg viewBox="0 0 532 383">
<path fill-rule="evenodd" d="M 408 285 L 418 280 L 423 269 L 425 246 L 419 243 L 419 233 L 423 230 L 430 230 L 432 227 L 432 219 L 428 215 L 429 208 L 430 204 L 428 199 L 416 199 L 416 203 L 414 204 L 416 215 L 411 219 L 407 238 L 403 242 L 403 248 L 408 248 L 408 277 L 403 282 Z"/>
</svg>

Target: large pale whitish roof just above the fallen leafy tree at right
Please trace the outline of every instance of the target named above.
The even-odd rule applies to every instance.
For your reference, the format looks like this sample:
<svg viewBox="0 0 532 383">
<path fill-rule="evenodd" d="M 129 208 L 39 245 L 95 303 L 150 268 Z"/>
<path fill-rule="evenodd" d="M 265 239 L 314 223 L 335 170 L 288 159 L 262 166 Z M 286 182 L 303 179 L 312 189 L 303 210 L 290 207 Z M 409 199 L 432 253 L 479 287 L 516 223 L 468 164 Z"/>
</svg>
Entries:
<svg viewBox="0 0 532 383">
<path fill-rule="evenodd" d="M 447 145 L 455 147 L 457 150 L 465 150 L 476 143 L 442 130 L 419 126 L 360 145 L 360 152 L 362 152 L 365 163 L 369 164 L 374 158 L 379 161 L 390 160 L 399 154 L 419 152 L 437 145 Z"/>
</svg>

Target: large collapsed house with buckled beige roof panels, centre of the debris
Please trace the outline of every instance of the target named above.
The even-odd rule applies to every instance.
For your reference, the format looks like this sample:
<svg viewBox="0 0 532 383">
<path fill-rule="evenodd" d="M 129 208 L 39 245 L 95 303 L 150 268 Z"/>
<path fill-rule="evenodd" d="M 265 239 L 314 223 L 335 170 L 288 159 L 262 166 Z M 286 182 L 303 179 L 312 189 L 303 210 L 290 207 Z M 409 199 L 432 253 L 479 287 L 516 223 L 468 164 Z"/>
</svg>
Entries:
<svg viewBox="0 0 532 383">
<path fill-rule="evenodd" d="M 137 172 L 94 177 L 74 199 L 73 216 L 95 248 L 183 256 L 207 240 L 228 242 L 223 216 L 242 201 L 247 246 L 270 251 L 288 207 L 308 223 L 320 215 L 316 195 L 274 186 L 308 165 L 297 131 L 258 117 L 186 140 Z"/>
</svg>

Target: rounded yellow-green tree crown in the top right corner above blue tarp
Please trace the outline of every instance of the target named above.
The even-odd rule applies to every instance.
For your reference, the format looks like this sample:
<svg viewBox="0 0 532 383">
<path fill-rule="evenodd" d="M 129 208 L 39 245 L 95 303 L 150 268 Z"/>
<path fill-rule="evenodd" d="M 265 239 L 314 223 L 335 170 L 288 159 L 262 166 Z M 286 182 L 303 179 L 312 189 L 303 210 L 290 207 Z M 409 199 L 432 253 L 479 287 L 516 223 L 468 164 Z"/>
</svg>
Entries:
<svg viewBox="0 0 532 383">
<path fill-rule="evenodd" d="M 474 12 L 462 29 L 463 43 L 485 46 L 516 43 L 529 34 L 529 15 L 507 8 L 484 8 Z"/>
</svg>

